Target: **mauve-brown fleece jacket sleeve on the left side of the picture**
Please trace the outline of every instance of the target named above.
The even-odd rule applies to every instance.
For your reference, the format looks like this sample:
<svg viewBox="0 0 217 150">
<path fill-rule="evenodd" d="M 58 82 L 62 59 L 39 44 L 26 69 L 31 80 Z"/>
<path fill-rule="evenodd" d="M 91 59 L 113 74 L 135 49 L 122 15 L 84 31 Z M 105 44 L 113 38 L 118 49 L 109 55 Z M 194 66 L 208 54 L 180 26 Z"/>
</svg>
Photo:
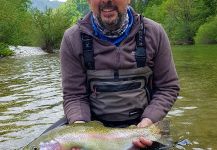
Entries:
<svg viewBox="0 0 217 150">
<path fill-rule="evenodd" d="M 69 123 L 90 121 L 90 107 L 86 90 L 86 74 L 82 65 L 79 37 L 66 31 L 60 48 L 63 88 L 63 108 Z"/>
</svg>

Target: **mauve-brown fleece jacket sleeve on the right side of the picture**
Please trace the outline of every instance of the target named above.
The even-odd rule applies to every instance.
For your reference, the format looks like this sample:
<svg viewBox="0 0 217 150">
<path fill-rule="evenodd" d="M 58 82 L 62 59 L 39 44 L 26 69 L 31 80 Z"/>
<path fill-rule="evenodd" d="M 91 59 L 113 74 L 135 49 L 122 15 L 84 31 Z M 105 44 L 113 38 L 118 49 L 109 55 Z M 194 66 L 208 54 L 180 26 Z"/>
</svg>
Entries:
<svg viewBox="0 0 217 150">
<path fill-rule="evenodd" d="M 179 92 L 170 42 L 161 25 L 158 25 L 158 33 L 155 36 L 158 37 L 158 45 L 154 57 L 152 99 L 142 115 L 152 122 L 160 121 L 166 116 Z"/>
</svg>

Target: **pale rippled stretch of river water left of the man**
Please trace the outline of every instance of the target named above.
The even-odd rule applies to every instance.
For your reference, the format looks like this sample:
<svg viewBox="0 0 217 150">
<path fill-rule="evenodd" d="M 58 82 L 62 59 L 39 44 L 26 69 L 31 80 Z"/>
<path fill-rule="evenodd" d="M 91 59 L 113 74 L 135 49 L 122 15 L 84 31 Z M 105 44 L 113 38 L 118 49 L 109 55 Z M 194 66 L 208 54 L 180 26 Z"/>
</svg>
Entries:
<svg viewBox="0 0 217 150">
<path fill-rule="evenodd" d="M 1 65 L 0 149 L 17 149 L 63 116 L 59 60 L 31 56 L 4 59 Z"/>
</svg>

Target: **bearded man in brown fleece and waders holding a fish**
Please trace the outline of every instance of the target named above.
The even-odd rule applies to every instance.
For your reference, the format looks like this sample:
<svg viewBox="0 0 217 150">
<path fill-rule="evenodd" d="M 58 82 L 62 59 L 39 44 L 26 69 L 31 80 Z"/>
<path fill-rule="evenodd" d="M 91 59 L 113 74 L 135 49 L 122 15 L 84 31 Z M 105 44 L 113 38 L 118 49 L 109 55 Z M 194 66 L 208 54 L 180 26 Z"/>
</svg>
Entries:
<svg viewBox="0 0 217 150">
<path fill-rule="evenodd" d="M 88 0 L 91 12 L 61 44 L 64 111 L 69 123 L 146 127 L 163 119 L 179 86 L 161 25 L 129 7 L 130 0 Z M 144 138 L 137 147 L 152 145 Z M 74 148 L 76 149 L 76 148 Z"/>
</svg>

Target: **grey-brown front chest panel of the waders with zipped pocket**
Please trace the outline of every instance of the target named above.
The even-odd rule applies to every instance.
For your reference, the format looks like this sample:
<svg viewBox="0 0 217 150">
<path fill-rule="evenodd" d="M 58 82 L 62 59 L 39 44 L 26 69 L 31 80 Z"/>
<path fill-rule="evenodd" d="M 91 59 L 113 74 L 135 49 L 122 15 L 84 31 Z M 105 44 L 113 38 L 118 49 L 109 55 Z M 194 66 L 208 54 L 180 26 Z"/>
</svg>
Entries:
<svg viewBox="0 0 217 150">
<path fill-rule="evenodd" d="M 151 70 L 147 67 L 88 71 L 91 115 L 98 120 L 126 121 L 141 117 L 148 104 L 146 86 Z"/>
</svg>

